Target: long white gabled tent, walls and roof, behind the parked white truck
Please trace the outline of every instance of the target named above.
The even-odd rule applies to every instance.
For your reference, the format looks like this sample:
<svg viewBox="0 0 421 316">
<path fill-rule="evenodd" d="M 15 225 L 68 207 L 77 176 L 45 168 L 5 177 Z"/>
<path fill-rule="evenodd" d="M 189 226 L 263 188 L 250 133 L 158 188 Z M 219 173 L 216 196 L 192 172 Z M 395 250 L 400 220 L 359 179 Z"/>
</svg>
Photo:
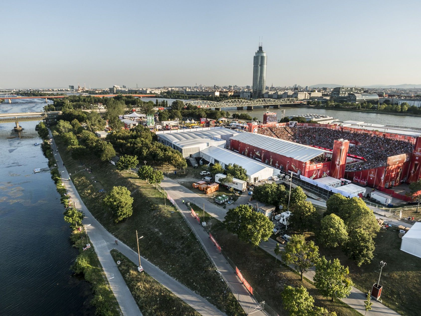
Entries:
<svg viewBox="0 0 421 316">
<path fill-rule="evenodd" d="M 266 180 L 273 175 L 279 174 L 277 169 L 221 147 L 207 147 L 200 151 L 200 157 L 203 159 L 203 163 L 219 163 L 224 168 L 230 163 L 242 166 L 247 170 L 247 182 L 249 183 L 256 183 L 259 180 Z"/>
</svg>

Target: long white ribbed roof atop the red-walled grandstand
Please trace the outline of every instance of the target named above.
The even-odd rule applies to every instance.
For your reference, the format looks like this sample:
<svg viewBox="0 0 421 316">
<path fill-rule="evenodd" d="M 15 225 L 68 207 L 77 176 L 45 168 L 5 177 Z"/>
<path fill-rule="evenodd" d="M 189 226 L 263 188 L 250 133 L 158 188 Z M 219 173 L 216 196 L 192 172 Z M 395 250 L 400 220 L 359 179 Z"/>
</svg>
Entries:
<svg viewBox="0 0 421 316">
<path fill-rule="evenodd" d="M 326 150 L 289 142 L 288 140 L 249 132 L 234 135 L 231 139 L 304 162 L 323 153 L 330 153 Z"/>
</svg>

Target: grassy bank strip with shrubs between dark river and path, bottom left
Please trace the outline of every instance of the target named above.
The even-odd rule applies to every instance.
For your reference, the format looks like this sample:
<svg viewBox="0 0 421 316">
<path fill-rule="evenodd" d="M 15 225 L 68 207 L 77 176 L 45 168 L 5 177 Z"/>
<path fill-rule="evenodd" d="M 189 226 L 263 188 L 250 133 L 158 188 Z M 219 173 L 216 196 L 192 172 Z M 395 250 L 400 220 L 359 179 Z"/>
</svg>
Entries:
<svg viewBox="0 0 421 316">
<path fill-rule="evenodd" d="M 91 304 L 96 308 L 96 315 L 123 315 L 109 287 L 107 277 L 93 249 L 93 245 L 91 244 L 91 248 L 83 251 L 83 247 L 86 244 L 85 232 L 74 230 L 71 239 L 80 252 L 73 269 L 76 273 L 83 273 L 85 280 L 92 284 L 94 297 L 91 300 Z"/>
</svg>

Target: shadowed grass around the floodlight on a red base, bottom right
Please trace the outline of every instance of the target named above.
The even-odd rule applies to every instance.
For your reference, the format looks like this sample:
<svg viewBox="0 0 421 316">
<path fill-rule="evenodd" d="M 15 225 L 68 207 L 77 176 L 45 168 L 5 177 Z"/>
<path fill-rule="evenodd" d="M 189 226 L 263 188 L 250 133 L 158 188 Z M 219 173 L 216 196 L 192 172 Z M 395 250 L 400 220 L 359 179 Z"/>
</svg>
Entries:
<svg viewBox="0 0 421 316">
<path fill-rule="evenodd" d="M 402 315 L 420 315 L 421 301 L 421 258 L 400 250 L 402 239 L 395 228 L 381 229 L 374 240 L 376 250 L 368 265 L 357 267 L 340 249 L 325 249 L 319 246 L 320 254 L 328 260 L 339 258 L 342 265 L 349 267 L 349 275 L 361 291 L 371 291 L 380 273 L 379 262 L 387 263 L 381 273 L 383 304 Z"/>
</svg>

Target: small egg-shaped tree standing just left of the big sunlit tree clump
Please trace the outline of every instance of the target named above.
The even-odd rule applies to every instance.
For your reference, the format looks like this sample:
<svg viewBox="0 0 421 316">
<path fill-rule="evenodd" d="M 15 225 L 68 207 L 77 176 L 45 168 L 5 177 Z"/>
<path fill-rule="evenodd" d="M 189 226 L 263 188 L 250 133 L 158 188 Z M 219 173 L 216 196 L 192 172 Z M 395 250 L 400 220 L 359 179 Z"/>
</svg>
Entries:
<svg viewBox="0 0 421 316">
<path fill-rule="evenodd" d="M 348 232 L 341 217 L 333 213 L 323 217 L 317 239 L 323 246 L 329 248 L 344 245 L 348 240 Z"/>
</svg>

